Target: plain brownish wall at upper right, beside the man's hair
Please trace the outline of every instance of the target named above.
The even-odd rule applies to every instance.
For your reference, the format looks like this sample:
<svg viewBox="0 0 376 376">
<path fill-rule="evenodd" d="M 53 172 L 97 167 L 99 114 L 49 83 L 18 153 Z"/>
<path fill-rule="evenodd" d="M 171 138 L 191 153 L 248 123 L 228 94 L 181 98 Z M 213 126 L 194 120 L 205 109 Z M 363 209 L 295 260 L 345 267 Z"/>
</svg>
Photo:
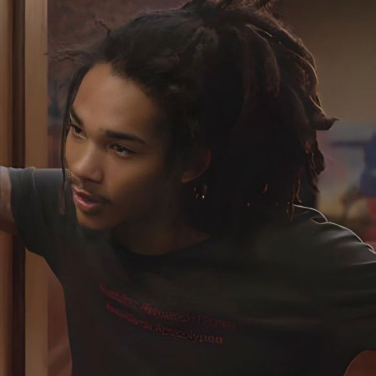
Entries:
<svg viewBox="0 0 376 376">
<path fill-rule="evenodd" d="M 376 120 L 376 2 L 282 0 L 286 19 L 313 53 L 326 112 Z"/>
</svg>

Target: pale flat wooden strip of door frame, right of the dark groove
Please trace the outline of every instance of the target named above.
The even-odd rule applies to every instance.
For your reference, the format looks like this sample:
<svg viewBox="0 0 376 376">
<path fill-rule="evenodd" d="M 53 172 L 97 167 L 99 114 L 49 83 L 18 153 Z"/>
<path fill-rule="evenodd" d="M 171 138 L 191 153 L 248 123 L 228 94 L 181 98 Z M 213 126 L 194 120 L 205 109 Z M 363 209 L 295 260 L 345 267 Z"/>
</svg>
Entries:
<svg viewBox="0 0 376 376">
<path fill-rule="evenodd" d="M 20 1 L 20 0 L 19 0 Z M 25 3 L 25 167 L 48 167 L 47 0 Z M 46 261 L 25 253 L 25 374 L 48 375 Z"/>
</svg>

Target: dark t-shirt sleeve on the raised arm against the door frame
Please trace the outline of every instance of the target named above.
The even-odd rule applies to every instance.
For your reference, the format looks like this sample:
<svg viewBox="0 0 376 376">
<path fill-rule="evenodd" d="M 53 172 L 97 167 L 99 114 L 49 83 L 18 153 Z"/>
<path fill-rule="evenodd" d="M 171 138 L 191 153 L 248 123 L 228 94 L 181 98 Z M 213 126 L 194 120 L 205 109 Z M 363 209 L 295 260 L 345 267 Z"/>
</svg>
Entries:
<svg viewBox="0 0 376 376">
<path fill-rule="evenodd" d="M 63 174 L 61 169 L 9 169 L 11 208 L 26 247 L 48 259 L 61 225 Z"/>
</svg>

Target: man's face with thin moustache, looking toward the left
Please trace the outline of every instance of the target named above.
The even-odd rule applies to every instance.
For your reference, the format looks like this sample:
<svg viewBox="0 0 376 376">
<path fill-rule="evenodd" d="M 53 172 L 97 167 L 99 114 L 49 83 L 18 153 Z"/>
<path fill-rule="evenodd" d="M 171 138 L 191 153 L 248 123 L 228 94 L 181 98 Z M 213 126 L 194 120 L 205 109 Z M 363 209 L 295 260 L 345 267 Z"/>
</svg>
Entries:
<svg viewBox="0 0 376 376">
<path fill-rule="evenodd" d="M 166 174 L 160 118 L 156 104 L 136 84 L 114 76 L 109 64 L 89 70 L 71 111 L 66 168 L 78 192 L 105 202 L 75 200 L 79 224 L 91 229 L 134 225 L 169 207 L 179 179 Z"/>
</svg>

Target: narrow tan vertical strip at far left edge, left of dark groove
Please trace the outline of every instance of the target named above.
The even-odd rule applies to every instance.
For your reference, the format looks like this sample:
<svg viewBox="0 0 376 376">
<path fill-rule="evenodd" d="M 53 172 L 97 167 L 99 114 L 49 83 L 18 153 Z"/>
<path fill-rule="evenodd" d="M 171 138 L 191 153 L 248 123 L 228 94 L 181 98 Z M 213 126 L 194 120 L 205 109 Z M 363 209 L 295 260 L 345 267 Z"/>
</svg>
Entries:
<svg viewBox="0 0 376 376">
<path fill-rule="evenodd" d="M 12 3 L 0 2 L 0 165 L 11 160 Z M 12 237 L 0 232 L 0 376 L 9 376 L 12 344 Z"/>
</svg>

